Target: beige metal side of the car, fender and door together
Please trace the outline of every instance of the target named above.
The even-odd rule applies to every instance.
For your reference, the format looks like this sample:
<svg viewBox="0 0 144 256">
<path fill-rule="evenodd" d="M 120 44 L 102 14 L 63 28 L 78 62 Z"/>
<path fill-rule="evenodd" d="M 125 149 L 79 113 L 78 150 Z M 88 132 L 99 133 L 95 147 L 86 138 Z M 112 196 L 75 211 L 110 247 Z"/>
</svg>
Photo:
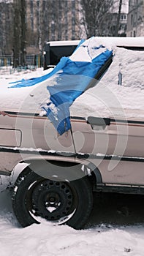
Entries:
<svg viewBox="0 0 144 256">
<path fill-rule="evenodd" d="M 18 162 L 47 159 L 83 165 L 92 163 L 99 170 L 103 184 L 143 186 L 143 119 L 111 118 L 106 125 L 101 121 L 96 125 L 97 119 L 94 124 L 92 121 L 90 124 L 85 118 L 71 118 L 72 131 L 58 136 L 45 116 L 1 113 L 2 144 L 7 131 L 11 135 L 7 137 L 11 145 L 1 145 L 0 148 L 1 174 L 10 173 Z"/>
</svg>

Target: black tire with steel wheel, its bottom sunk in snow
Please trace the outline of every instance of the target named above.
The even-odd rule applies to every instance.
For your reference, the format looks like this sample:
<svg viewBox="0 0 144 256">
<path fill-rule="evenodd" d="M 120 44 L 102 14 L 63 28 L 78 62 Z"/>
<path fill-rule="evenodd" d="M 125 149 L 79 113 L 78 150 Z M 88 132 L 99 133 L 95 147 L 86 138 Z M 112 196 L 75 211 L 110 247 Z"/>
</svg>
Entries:
<svg viewBox="0 0 144 256">
<path fill-rule="evenodd" d="M 23 227 L 39 223 L 37 217 L 42 217 L 58 225 L 81 229 L 92 206 L 93 193 L 87 177 L 70 182 L 52 181 L 26 167 L 12 190 L 12 208 Z M 54 210 L 50 211 L 51 208 Z"/>
</svg>

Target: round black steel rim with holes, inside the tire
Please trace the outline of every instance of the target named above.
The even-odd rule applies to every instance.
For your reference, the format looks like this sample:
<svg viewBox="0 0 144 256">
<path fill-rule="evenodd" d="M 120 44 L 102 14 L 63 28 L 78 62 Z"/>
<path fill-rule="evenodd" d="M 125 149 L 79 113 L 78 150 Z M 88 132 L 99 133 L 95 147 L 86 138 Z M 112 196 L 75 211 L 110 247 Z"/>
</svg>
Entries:
<svg viewBox="0 0 144 256">
<path fill-rule="evenodd" d="M 29 211 L 35 217 L 58 222 L 67 219 L 77 208 L 75 192 L 69 182 L 43 180 L 34 183 L 30 190 L 26 201 L 31 200 Z"/>
</svg>

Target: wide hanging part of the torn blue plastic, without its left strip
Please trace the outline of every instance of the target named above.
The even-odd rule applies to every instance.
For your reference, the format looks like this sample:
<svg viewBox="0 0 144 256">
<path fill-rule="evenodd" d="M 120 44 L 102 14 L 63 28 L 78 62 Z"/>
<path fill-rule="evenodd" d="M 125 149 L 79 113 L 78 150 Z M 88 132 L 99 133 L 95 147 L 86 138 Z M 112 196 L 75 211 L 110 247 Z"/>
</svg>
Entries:
<svg viewBox="0 0 144 256">
<path fill-rule="evenodd" d="M 58 74 L 58 78 L 55 78 L 56 85 L 47 87 L 50 92 L 51 105 L 49 103 L 43 107 L 59 135 L 71 128 L 69 107 L 72 102 L 86 91 L 91 79 L 95 77 L 100 67 L 111 55 L 112 51 L 106 50 L 92 62 L 75 62 L 69 58 L 61 59 L 60 63 L 64 66 L 63 72 Z"/>
</svg>

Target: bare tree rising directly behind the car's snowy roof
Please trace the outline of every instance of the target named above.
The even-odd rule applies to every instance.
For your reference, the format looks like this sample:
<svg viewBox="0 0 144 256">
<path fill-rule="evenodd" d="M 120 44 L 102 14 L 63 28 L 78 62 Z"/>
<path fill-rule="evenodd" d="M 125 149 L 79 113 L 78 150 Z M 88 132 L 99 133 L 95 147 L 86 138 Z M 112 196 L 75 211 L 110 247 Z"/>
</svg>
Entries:
<svg viewBox="0 0 144 256">
<path fill-rule="evenodd" d="M 87 37 L 107 36 L 109 34 L 114 0 L 80 0 L 83 10 L 83 26 Z"/>
</svg>

